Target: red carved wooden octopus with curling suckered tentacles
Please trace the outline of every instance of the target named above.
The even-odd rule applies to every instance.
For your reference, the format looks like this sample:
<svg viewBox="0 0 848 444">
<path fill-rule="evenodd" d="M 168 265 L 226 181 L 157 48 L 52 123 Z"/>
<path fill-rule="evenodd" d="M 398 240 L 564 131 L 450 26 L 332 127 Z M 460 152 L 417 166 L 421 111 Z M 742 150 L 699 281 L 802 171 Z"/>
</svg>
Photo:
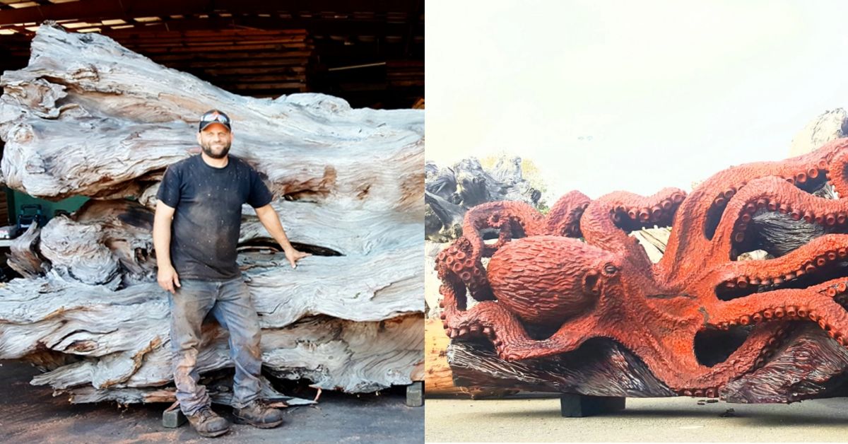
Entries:
<svg viewBox="0 0 848 444">
<path fill-rule="evenodd" d="M 846 167 L 848 138 L 729 168 L 689 196 L 665 188 L 589 200 L 572 191 L 547 216 L 518 202 L 478 205 L 466 213 L 463 237 L 437 257 L 444 328 L 455 339 L 487 337 L 507 361 L 609 338 L 687 396 L 719 396 L 728 381 L 761 368 L 792 322 L 815 323 L 848 345 L 848 278 L 840 271 L 848 199 L 812 194 L 829 181 L 848 195 Z M 774 259 L 736 261 L 749 246 L 752 217 L 763 212 L 819 224 L 826 234 Z M 628 236 L 654 225 L 672 227 L 656 264 Z M 484 241 L 487 233 L 497 241 Z M 477 303 L 466 309 L 468 294 Z M 745 325 L 750 334 L 726 359 L 699 361 L 697 334 Z"/>
</svg>

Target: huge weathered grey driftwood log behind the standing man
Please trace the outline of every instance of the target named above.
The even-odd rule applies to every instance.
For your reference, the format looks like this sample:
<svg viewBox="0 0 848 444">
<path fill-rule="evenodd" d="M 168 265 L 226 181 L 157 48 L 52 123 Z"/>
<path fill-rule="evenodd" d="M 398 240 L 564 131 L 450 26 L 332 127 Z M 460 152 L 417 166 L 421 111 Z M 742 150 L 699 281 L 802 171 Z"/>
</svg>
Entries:
<svg viewBox="0 0 848 444">
<path fill-rule="evenodd" d="M 165 167 L 196 152 L 198 116 L 211 108 L 232 117 L 232 154 L 265 178 L 289 238 L 315 253 L 293 270 L 245 205 L 239 265 L 269 374 L 348 392 L 423 378 L 422 111 L 240 97 L 108 37 L 49 25 L 29 66 L 0 85 L 5 183 L 93 199 L 20 239 L 11 262 L 25 278 L 0 288 L 0 358 L 48 368 L 34 384 L 73 402 L 172 399 L 152 209 Z M 198 365 L 232 366 L 215 323 Z"/>
</svg>

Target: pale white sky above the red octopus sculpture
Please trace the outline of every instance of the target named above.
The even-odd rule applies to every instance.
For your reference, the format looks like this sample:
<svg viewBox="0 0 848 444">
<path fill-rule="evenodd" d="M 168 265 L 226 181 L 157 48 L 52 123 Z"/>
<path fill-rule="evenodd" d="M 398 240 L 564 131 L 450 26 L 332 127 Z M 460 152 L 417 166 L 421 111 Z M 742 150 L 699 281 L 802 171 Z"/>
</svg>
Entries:
<svg viewBox="0 0 848 444">
<path fill-rule="evenodd" d="M 653 194 L 778 160 L 848 107 L 848 2 L 427 0 L 427 160 Z"/>
</svg>

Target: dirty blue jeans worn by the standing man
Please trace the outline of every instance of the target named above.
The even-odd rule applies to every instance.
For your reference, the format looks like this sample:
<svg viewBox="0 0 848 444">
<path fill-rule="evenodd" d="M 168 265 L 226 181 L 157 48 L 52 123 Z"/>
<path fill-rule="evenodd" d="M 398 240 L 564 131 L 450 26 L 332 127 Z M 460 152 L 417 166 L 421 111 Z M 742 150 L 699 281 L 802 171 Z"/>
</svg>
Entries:
<svg viewBox="0 0 848 444">
<path fill-rule="evenodd" d="M 176 399 L 182 413 L 192 414 L 211 401 L 206 387 L 198 384 L 200 326 L 211 310 L 221 327 L 230 332 L 230 357 L 236 366 L 232 384 L 233 407 L 246 407 L 259 397 L 259 317 L 243 278 L 226 281 L 181 279 L 170 303 L 171 364 Z"/>
</svg>

